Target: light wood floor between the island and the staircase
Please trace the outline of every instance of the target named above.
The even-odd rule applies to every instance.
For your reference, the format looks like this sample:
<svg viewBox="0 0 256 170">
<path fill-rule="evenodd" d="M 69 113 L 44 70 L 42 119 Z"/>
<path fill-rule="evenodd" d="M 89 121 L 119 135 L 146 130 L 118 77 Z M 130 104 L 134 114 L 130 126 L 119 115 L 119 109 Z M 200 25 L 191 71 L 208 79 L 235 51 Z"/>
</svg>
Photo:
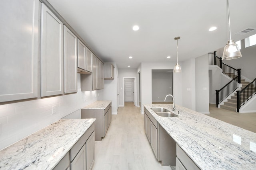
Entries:
<svg viewBox="0 0 256 170">
<path fill-rule="evenodd" d="M 238 113 L 222 108 L 217 108 L 215 104 L 209 105 L 210 117 L 225 121 L 232 125 L 256 133 L 256 113 Z"/>
</svg>

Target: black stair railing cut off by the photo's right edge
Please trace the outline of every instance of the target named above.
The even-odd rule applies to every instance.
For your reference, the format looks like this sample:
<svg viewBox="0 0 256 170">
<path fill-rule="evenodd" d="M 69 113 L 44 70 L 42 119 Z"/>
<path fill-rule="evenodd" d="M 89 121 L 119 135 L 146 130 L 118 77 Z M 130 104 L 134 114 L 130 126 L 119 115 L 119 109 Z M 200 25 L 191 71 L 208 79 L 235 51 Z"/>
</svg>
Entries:
<svg viewBox="0 0 256 170">
<path fill-rule="evenodd" d="M 237 109 L 236 111 L 239 112 L 240 107 L 242 107 L 252 96 L 256 94 L 256 78 L 252 80 L 245 88 L 242 90 L 236 91 L 237 96 Z"/>
</svg>

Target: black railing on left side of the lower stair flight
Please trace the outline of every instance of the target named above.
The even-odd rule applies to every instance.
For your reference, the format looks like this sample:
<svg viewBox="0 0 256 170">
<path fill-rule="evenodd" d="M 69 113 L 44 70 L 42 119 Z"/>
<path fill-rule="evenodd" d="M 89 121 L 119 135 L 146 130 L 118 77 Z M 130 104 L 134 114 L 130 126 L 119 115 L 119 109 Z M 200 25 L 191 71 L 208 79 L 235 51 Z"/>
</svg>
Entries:
<svg viewBox="0 0 256 170">
<path fill-rule="evenodd" d="M 222 87 L 220 90 L 216 90 L 216 107 L 226 99 L 230 94 L 232 94 L 239 87 L 238 76 L 233 78 L 228 84 Z"/>
</svg>

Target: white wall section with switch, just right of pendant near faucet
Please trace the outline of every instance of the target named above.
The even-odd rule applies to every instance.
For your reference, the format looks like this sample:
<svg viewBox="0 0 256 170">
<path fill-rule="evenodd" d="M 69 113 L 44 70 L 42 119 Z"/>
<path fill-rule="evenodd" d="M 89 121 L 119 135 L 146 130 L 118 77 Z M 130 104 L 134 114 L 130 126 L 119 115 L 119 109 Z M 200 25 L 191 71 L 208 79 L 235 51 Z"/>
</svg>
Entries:
<svg viewBox="0 0 256 170">
<path fill-rule="evenodd" d="M 182 106 L 196 110 L 195 59 L 182 62 Z"/>
</svg>

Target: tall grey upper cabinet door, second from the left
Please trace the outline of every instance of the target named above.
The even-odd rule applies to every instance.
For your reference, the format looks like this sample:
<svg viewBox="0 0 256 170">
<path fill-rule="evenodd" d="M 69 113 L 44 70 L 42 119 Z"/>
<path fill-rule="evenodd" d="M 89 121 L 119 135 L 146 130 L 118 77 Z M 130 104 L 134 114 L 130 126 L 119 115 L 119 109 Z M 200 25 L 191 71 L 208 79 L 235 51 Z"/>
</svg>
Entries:
<svg viewBox="0 0 256 170">
<path fill-rule="evenodd" d="M 41 96 L 63 94 L 63 23 L 42 4 Z"/>
</svg>

